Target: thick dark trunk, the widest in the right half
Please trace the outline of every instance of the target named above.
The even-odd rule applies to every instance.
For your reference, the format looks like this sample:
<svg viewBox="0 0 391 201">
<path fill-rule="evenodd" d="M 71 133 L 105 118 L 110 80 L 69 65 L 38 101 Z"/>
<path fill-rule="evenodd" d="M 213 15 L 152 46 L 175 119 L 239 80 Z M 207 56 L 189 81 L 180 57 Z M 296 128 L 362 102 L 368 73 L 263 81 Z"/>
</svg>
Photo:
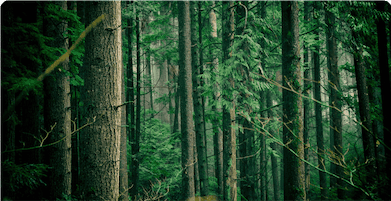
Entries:
<svg viewBox="0 0 391 201">
<path fill-rule="evenodd" d="M 281 2 L 284 138 L 284 200 L 305 200 L 303 117 L 300 84 L 299 5 Z"/>
</svg>

